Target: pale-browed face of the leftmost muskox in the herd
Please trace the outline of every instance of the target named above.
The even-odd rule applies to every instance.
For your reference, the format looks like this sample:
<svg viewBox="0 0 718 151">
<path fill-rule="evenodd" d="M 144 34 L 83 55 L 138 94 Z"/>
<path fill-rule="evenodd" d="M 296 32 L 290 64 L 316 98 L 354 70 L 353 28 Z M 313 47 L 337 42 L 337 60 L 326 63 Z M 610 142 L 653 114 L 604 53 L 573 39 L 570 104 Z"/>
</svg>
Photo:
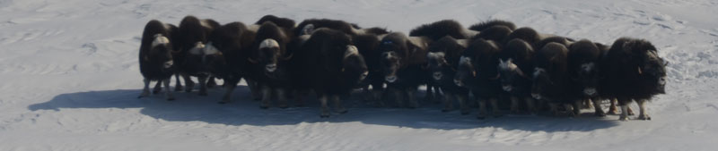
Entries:
<svg viewBox="0 0 718 151">
<path fill-rule="evenodd" d="M 170 39 L 162 36 L 161 34 L 154 35 L 152 42 L 152 48 L 148 56 L 145 56 L 145 60 L 149 60 L 153 64 L 158 64 L 162 68 L 162 71 L 170 70 L 174 66 L 172 59 Z"/>
</svg>

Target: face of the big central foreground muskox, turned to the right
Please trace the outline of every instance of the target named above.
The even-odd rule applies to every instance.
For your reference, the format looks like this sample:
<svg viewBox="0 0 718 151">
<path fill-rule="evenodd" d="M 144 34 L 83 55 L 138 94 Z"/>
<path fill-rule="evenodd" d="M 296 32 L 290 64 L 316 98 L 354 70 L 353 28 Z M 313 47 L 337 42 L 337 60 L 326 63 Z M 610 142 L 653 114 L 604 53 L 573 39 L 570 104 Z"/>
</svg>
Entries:
<svg viewBox="0 0 718 151">
<path fill-rule="evenodd" d="M 359 55 L 356 46 L 346 46 L 344 59 L 342 59 L 342 72 L 349 77 L 357 77 L 357 84 L 361 83 L 369 75 L 364 58 Z"/>
</svg>

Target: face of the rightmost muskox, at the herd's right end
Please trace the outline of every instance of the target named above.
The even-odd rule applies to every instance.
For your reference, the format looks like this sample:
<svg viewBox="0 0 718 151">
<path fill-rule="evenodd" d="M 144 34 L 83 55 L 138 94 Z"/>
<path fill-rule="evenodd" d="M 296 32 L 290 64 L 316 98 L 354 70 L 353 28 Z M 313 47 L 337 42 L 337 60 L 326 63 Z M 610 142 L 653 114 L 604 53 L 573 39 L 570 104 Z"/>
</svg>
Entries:
<svg viewBox="0 0 718 151">
<path fill-rule="evenodd" d="M 654 50 L 647 52 L 648 57 L 643 63 L 643 66 L 639 66 L 638 72 L 644 75 L 645 78 L 652 81 L 654 84 L 655 91 L 661 94 L 666 93 L 666 65 L 668 62 L 663 60 L 656 54 Z"/>
</svg>

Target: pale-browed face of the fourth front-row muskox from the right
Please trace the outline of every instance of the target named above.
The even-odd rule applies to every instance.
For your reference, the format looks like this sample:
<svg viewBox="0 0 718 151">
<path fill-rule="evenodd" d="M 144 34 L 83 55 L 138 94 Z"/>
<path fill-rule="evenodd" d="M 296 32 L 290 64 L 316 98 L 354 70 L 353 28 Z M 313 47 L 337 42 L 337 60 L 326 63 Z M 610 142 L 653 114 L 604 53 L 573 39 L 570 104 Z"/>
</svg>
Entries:
<svg viewBox="0 0 718 151">
<path fill-rule="evenodd" d="M 511 92 L 514 88 L 513 83 L 517 82 L 522 78 L 526 78 L 526 75 L 519 69 L 519 66 L 513 63 L 511 58 L 503 60 L 499 59 L 499 81 L 501 81 L 501 88 L 503 91 Z"/>
</svg>

